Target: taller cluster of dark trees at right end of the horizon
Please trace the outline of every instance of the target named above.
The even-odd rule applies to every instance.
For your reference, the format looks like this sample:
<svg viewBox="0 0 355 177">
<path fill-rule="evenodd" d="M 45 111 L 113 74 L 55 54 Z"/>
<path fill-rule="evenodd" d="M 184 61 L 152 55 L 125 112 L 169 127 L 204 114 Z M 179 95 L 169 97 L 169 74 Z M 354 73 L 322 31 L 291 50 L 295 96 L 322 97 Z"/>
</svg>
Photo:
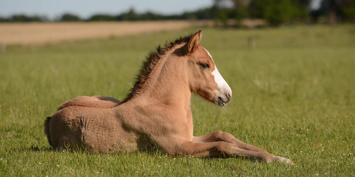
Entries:
<svg viewBox="0 0 355 177">
<path fill-rule="evenodd" d="M 231 2 L 229 7 L 223 6 Z M 312 4 L 318 2 L 318 7 Z M 327 19 L 355 22 L 355 0 L 215 0 L 222 21 L 230 18 L 260 18 L 270 24 L 306 22 Z"/>
</svg>

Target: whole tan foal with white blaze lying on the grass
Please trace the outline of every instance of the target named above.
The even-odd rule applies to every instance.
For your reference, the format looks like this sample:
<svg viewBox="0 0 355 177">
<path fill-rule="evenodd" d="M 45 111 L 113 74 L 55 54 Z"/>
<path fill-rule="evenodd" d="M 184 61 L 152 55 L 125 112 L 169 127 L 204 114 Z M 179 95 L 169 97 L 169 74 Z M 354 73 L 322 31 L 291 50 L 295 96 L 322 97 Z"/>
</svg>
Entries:
<svg viewBox="0 0 355 177">
<path fill-rule="evenodd" d="M 290 159 L 244 143 L 230 133 L 193 136 L 191 92 L 221 107 L 232 96 L 200 40 L 198 30 L 164 48 L 159 46 L 143 63 L 131 93 L 122 102 L 94 96 L 62 104 L 44 123 L 50 145 L 102 153 L 156 147 L 170 155 L 244 156 L 291 164 Z"/>
</svg>

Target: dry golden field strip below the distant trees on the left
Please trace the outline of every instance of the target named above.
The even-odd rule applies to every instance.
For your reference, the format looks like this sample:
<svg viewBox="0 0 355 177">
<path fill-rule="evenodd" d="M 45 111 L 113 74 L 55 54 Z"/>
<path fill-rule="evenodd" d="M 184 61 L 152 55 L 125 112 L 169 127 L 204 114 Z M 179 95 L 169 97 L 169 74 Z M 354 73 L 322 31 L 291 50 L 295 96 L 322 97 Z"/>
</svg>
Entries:
<svg viewBox="0 0 355 177">
<path fill-rule="evenodd" d="M 208 21 L 0 23 L 0 43 L 6 45 L 55 43 L 182 29 L 208 23 Z"/>
</svg>

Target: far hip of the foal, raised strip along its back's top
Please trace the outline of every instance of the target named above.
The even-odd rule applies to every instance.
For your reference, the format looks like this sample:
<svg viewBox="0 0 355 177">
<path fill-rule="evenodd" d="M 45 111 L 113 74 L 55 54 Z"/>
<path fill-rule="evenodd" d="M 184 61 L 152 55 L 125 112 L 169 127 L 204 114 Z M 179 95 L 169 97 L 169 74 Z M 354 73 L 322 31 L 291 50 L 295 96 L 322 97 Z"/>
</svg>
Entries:
<svg viewBox="0 0 355 177">
<path fill-rule="evenodd" d="M 121 103 L 116 98 L 104 97 L 104 96 L 81 96 L 73 98 L 69 101 L 64 102 L 60 105 L 58 110 L 69 106 L 82 106 L 82 107 L 92 107 L 92 108 L 113 108 Z"/>
</svg>

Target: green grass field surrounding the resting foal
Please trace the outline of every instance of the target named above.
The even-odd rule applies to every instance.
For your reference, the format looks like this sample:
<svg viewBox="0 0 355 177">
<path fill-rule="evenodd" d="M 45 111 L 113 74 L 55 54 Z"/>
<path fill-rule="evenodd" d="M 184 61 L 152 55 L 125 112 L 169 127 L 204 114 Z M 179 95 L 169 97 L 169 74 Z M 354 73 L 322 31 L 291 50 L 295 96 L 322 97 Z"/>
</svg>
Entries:
<svg viewBox="0 0 355 177">
<path fill-rule="evenodd" d="M 43 121 L 62 102 L 123 99 L 149 50 L 197 29 L 7 47 L 0 53 L 0 176 L 355 176 L 354 25 L 202 29 L 201 45 L 233 98 L 219 108 L 194 95 L 195 136 L 230 132 L 293 166 L 51 149 Z"/>
</svg>

